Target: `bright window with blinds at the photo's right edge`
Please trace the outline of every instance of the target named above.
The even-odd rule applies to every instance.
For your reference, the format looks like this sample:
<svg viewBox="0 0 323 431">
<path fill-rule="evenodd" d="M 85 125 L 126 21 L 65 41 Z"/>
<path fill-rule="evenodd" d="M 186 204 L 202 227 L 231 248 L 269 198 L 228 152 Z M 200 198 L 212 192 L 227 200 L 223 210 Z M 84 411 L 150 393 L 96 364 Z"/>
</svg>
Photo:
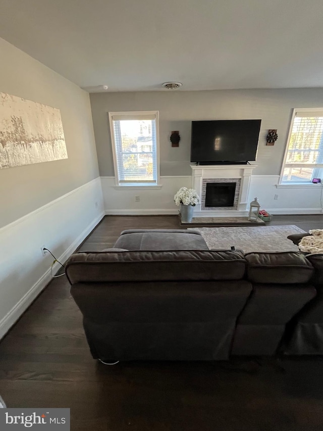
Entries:
<svg viewBox="0 0 323 431">
<path fill-rule="evenodd" d="M 323 177 L 323 108 L 294 109 L 281 184 Z"/>
</svg>

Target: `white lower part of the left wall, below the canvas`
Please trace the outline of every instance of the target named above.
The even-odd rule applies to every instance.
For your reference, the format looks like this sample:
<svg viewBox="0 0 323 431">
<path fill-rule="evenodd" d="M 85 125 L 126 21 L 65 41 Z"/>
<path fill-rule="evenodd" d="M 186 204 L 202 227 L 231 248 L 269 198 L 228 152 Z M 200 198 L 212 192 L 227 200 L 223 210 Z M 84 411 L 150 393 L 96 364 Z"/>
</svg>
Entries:
<svg viewBox="0 0 323 431">
<path fill-rule="evenodd" d="M 100 178 L 0 229 L 0 338 L 50 281 L 53 258 L 64 262 L 104 216 Z M 60 268 L 58 263 L 53 273 Z"/>
</svg>

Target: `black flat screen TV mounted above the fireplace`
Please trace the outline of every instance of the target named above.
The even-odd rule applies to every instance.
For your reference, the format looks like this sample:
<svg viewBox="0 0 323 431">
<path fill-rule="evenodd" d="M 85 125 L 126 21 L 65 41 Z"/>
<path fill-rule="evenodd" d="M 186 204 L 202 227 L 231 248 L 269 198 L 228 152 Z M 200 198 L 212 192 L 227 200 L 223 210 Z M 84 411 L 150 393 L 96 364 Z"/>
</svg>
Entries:
<svg viewBox="0 0 323 431">
<path fill-rule="evenodd" d="M 191 162 L 230 164 L 256 160 L 261 120 L 192 121 Z"/>
</svg>

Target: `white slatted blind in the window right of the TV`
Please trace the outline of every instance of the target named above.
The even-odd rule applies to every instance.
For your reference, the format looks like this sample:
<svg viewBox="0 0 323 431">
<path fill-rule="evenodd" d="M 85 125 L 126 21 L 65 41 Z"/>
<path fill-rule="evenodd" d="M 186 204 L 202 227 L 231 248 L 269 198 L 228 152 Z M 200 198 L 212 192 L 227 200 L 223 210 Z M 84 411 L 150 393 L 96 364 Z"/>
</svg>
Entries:
<svg viewBox="0 0 323 431">
<path fill-rule="evenodd" d="M 297 113 L 289 140 L 285 166 L 323 162 L 323 113 Z"/>
</svg>

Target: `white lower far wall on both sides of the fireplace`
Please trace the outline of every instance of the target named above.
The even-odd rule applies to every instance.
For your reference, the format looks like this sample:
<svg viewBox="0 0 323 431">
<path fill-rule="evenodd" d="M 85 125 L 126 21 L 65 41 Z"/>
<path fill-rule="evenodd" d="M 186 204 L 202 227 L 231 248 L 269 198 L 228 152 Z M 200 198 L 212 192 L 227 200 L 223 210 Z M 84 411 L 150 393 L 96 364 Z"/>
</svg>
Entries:
<svg viewBox="0 0 323 431">
<path fill-rule="evenodd" d="M 321 214 L 322 184 L 277 187 L 278 181 L 279 175 L 252 175 L 247 202 L 257 197 L 261 208 L 271 214 Z M 192 177 L 161 176 L 160 189 L 115 188 L 112 176 L 101 177 L 101 183 L 105 214 L 178 214 L 173 197 L 180 187 L 192 187 Z M 135 202 L 136 195 L 139 202 Z"/>
</svg>

